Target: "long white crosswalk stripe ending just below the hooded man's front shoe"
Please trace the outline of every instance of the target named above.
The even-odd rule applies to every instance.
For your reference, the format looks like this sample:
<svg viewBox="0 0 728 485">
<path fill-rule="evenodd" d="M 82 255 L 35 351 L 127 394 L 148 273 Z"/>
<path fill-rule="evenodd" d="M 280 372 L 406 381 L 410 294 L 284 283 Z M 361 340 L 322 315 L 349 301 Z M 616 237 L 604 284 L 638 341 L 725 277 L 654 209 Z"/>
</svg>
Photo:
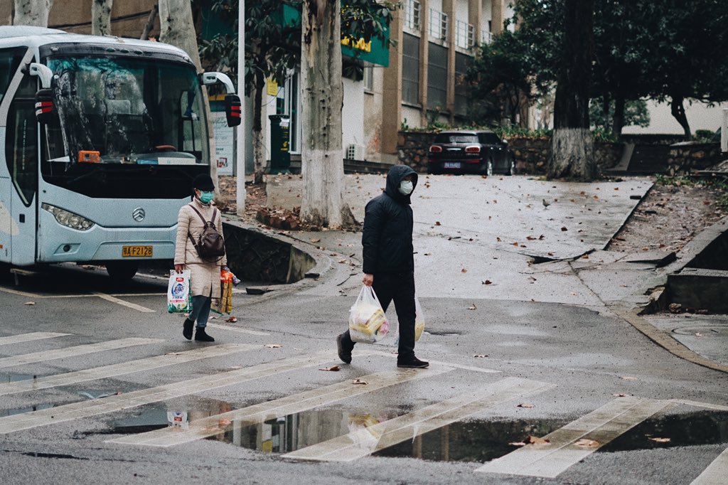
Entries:
<svg viewBox="0 0 728 485">
<path fill-rule="evenodd" d="M 375 390 L 389 387 L 403 382 L 411 382 L 417 379 L 432 377 L 454 370 L 445 366 L 436 366 L 427 371 L 416 371 L 414 369 L 401 369 L 397 371 L 380 372 L 359 377 L 367 385 L 352 384 L 350 380 L 337 382 L 333 385 L 309 390 L 286 396 L 285 398 L 268 401 L 265 403 L 248 406 L 243 409 L 236 409 L 215 416 L 195 419 L 190 423 L 189 429 L 180 430 L 174 427 L 166 427 L 161 430 L 154 430 L 138 435 L 124 436 L 109 440 L 108 443 L 125 443 L 146 446 L 175 446 L 189 441 L 224 433 L 227 427 L 255 425 L 277 417 L 296 414 L 319 406 L 326 406 L 342 399 L 352 398 L 357 395 L 371 393 Z M 221 425 L 221 423 L 223 423 Z"/>
</svg>

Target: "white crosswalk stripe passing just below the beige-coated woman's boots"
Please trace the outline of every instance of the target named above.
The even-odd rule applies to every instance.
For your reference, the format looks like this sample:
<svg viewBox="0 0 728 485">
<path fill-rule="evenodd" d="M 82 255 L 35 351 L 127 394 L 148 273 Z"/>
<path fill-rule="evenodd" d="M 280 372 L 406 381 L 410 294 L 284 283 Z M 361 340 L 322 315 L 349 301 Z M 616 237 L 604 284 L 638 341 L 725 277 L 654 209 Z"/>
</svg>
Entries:
<svg viewBox="0 0 728 485">
<path fill-rule="evenodd" d="M 153 368 L 191 362 L 192 360 L 218 357 L 220 355 L 226 355 L 233 352 L 243 352 L 245 350 L 253 350 L 259 347 L 260 346 L 258 345 L 250 344 L 221 344 L 214 345 L 212 347 L 200 347 L 195 350 L 186 350 L 184 352 L 155 355 L 154 357 L 130 360 L 129 362 L 84 369 L 83 371 L 68 372 L 66 374 L 57 374 L 55 376 L 7 382 L 0 384 L 0 395 L 22 393 L 29 390 L 41 390 L 49 387 L 66 386 L 95 379 L 106 379 L 108 377 L 131 374 L 132 372 L 148 371 Z"/>
</svg>

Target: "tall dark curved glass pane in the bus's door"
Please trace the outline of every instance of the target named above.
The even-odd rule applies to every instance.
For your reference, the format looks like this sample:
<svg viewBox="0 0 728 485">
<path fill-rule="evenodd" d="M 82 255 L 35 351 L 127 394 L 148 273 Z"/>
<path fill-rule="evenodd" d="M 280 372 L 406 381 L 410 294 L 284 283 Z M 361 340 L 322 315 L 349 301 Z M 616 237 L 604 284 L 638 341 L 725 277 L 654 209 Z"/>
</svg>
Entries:
<svg viewBox="0 0 728 485">
<path fill-rule="evenodd" d="M 23 204 L 30 206 L 38 186 L 38 125 L 35 116 L 36 82 L 23 76 L 10 103 L 5 133 L 5 159 Z"/>
</svg>

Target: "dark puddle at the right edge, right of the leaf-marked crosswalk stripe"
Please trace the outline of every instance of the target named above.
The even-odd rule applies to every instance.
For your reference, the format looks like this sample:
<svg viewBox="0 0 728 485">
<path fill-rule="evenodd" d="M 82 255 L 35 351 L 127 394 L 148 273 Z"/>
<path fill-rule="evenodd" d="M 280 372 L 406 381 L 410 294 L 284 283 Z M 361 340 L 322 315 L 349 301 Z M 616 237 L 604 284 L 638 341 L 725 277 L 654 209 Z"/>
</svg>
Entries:
<svg viewBox="0 0 728 485">
<path fill-rule="evenodd" d="M 728 412 L 699 411 L 647 419 L 599 452 L 728 443 Z"/>
</svg>

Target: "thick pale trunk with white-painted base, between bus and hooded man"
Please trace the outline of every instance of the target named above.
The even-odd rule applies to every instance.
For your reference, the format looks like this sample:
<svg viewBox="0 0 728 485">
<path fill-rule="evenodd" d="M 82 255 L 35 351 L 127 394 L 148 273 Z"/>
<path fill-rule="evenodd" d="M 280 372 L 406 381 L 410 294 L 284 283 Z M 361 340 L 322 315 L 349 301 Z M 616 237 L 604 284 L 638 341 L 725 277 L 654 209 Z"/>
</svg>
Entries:
<svg viewBox="0 0 728 485">
<path fill-rule="evenodd" d="M 344 153 L 341 149 L 341 4 L 304 0 L 301 13 L 301 221 L 340 229 L 354 222 L 344 205 Z"/>
</svg>

